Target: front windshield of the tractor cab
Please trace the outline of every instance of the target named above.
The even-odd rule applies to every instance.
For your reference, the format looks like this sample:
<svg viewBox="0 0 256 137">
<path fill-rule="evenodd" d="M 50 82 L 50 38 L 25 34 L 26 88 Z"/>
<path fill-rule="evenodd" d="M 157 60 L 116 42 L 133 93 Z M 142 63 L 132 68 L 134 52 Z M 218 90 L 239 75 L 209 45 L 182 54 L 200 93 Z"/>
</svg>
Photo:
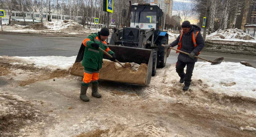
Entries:
<svg viewBox="0 0 256 137">
<path fill-rule="evenodd" d="M 145 8 L 140 12 L 140 8 L 131 11 L 132 23 L 156 23 L 156 10 Z"/>
</svg>

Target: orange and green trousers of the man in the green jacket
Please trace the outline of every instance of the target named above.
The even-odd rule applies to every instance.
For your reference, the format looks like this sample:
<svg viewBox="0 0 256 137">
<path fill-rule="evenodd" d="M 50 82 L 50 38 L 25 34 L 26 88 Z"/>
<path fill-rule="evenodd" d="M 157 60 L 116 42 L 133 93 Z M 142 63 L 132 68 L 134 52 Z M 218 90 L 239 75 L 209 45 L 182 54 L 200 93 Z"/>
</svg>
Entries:
<svg viewBox="0 0 256 137">
<path fill-rule="evenodd" d="M 86 86 L 92 82 L 94 84 L 98 84 L 98 79 L 99 79 L 99 71 L 87 71 L 84 70 L 84 78 L 83 78 L 83 82 L 82 85 Z"/>
</svg>

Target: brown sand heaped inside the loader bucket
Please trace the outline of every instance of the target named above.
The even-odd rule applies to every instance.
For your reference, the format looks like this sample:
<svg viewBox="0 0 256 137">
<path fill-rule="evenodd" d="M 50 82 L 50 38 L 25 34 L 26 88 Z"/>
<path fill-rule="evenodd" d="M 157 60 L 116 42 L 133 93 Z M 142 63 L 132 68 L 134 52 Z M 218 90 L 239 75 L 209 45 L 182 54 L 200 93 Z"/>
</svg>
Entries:
<svg viewBox="0 0 256 137">
<path fill-rule="evenodd" d="M 123 63 L 126 68 L 117 65 L 115 62 L 103 60 L 102 68 L 99 71 L 99 79 L 123 83 L 135 83 L 144 85 L 148 65 L 136 63 Z M 70 70 L 71 75 L 84 76 L 84 67 L 81 62 L 74 63 Z"/>
</svg>

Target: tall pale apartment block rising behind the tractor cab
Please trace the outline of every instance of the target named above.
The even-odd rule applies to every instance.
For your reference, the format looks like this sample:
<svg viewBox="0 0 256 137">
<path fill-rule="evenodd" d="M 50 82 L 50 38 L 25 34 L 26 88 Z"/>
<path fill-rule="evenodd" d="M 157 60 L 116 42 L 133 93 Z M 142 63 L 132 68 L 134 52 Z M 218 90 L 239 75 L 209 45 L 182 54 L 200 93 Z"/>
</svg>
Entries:
<svg viewBox="0 0 256 137">
<path fill-rule="evenodd" d="M 154 3 L 160 6 L 164 13 L 166 10 L 166 14 L 172 17 L 173 0 L 154 0 Z"/>
</svg>

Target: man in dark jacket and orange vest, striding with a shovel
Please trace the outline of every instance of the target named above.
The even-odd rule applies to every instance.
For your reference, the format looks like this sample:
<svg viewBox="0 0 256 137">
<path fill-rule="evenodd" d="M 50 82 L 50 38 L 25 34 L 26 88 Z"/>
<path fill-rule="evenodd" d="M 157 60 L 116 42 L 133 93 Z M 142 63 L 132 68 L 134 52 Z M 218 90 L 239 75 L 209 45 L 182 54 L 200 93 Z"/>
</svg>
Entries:
<svg viewBox="0 0 256 137">
<path fill-rule="evenodd" d="M 188 90 L 191 77 L 194 70 L 197 58 L 194 56 L 200 54 L 204 47 L 204 39 L 200 33 L 201 28 L 196 25 L 191 25 L 189 21 L 182 23 L 180 35 L 171 44 L 165 45 L 165 48 L 178 45 L 177 49 L 189 53 L 189 55 L 180 53 L 176 63 L 176 72 L 180 76 L 180 83 L 184 83 L 183 90 Z M 176 52 L 178 53 L 178 51 Z M 187 71 L 184 73 L 184 68 L 187 65 Z"/>
</svg>

